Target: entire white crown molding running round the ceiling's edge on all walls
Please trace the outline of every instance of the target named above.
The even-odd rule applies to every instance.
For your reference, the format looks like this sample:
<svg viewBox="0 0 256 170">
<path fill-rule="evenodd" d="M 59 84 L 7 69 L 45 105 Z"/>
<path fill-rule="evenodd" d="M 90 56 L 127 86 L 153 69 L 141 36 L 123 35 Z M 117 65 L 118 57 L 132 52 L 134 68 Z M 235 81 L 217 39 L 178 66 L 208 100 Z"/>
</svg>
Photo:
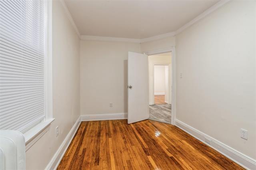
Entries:
<svg viewBox="0 0 256 170">
<path fill-rule="evenodd" d="M 193 20 L 191 20 L 190 22 L 188 22 L 187 24 L 185 24 L 184 26 L 182 26 L 181 28 L 179 28 L 175 32 L 168 32 L 166 34 L 160 34 L 158 36 L 152 36 L 152 37 L 142 38 L 142 39 L 80 35 L 80 33 L 79 33 L 79 31 L 76 27 L 76 24 L 74 23 L 74 20 L 71 16 L 70 12 L 68 11 L 68 8 L 67 8 L 64 0 L 60 0 L 60 1 L 62 2 L 62 5 L 64 6 L 64 9 L 66 10 L 66 14 L 68 15 L 68 19 L 70 20 L 72 26 L 76 30 L 76 33 L 80 37 L 81 40 L 103 41 L 103 42 L 145 43 L 145 42 L 152 42 L 152 41 L 156 41 L 156 40 L 161 40 L 161 39 L 168 38 L 168 37 L 174 37 L 177 34 L 180 34 L 184 30 L 186 30 L 186 28 L 192 26 L 194 23 L 198 22 L 199 20 L 202 20 L 208 14 L 214 12 L 215 10 L 217 10 L 218 8 L 220 8 L 221 6 L 223 6 L 224 4 L 226 4 L 227 2 L 229 2 L 231 0 L 220 0 L 219 2 L 217 2 L 216 4 L 214 4 L 213 6 L 208 8 L 207 10 L 205 10 L 202 14 L 198 15 L 196 18 L 194 18 Z"/>
</svg>

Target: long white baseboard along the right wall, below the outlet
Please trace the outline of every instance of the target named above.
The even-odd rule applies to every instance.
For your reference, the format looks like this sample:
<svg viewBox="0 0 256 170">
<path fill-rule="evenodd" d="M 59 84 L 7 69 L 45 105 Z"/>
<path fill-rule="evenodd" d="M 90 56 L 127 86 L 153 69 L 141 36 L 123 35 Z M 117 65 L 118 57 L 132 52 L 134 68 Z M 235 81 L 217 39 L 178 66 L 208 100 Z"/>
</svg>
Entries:
<svg viewBox="0 0 256 170">
<path fill-rule="evenodd" d="M 176 119 L 175 125 L 246 169 L 256 170 L 256 160 Z M 208 142 L 205 142 L 205 139 Z"/>
</svg>

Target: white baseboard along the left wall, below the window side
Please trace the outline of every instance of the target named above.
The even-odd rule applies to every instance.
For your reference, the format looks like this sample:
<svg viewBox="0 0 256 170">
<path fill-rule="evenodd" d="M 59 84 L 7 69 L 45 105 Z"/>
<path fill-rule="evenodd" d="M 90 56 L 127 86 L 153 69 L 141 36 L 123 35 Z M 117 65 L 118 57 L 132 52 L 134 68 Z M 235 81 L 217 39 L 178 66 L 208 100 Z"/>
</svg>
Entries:
<svg viewBox="0 0 256 170">
<path fill-rule="evenodd" d="M 76 131 L 81 123 L 81 118 L 79 117 L 74 124 L 74 126 L 71 128 L 71 130 L 68 132 L 68 135 L 58 148 L 57 152 L 54 154 L 52 159 L 50 160 L 49 164 L 46 166 L 45 170 L 56 170 L 58 165 L 60 164 L 60 161 L 62 160 L 62 157 L 64 156 L 66 150 L 68 149 L 68 146 L 70 145 L 70 142 L 74 138 L 74 135 L 76 134 Z"/>
</svg>

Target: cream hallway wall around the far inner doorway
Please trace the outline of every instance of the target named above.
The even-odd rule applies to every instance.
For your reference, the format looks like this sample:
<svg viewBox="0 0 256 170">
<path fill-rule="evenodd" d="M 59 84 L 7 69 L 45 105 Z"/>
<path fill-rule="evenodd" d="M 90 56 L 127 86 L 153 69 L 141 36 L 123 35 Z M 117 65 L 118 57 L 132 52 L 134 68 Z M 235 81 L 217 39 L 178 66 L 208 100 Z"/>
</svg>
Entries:
<svg viewBox="0 0 256 170">
<path fill-rule="evenodd" d="M 153 101 L 154 101 L 154 93 L 153 93 L 153 83 L 154 83 L 154 64 L 171 64 L 172 59 L 171 56 L 168 55 L 149 55 L 148 56 L 148 80 L 149 80 L 149 104 L 152 105 Z M 170 67 L 170 66 L 169 66 Z M 172 68 L 170 67 L 169 70 L 169 76 L 172 72 L 170 72 L 172 70 Z M 171 79 L 170 79 L 171 80 Z M 169 85 L 171 85 L 172 83 L 170 82 Z M 167 94 L 169 93 L 169 91 L 167 92 Z"/>
</svg>

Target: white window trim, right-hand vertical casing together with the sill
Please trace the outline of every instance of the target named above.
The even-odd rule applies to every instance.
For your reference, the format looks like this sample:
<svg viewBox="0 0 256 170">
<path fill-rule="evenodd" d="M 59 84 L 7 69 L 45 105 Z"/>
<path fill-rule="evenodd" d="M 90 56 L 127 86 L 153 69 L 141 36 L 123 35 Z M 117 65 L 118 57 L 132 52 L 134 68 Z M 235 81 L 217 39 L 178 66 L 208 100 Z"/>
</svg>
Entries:
<svg viewBox="0 0 256 170">
<path fill-rule="evenodd" d="M 24 132 L 26 151 L 33 146 L 48 130 L 53 118 L 52 111 L 52 0 L 44 0 L 45 19 L 45 57 L 44 57 L 44 90 L 45 118 L 28 131 Z"/>
</svg>

